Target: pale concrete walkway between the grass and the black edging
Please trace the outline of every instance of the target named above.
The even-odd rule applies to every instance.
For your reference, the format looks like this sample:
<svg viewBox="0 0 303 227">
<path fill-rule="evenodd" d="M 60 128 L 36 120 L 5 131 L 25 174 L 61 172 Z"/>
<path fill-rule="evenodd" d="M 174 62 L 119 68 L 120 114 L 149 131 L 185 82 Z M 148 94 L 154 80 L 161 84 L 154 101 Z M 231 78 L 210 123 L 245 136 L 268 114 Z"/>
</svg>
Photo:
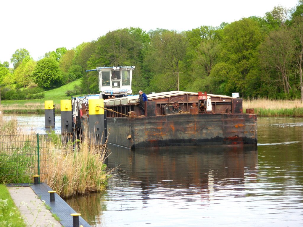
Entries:
<svg viewBox="0 0 303 227">
<path fill-rule="evenodd" d="M 31 187 L 9 187 L 9 193 L 21 214 L 25 223 L 32 227 L 61 227 L 62 225 L 46 209 L 41 199 Z"/>
</svg>

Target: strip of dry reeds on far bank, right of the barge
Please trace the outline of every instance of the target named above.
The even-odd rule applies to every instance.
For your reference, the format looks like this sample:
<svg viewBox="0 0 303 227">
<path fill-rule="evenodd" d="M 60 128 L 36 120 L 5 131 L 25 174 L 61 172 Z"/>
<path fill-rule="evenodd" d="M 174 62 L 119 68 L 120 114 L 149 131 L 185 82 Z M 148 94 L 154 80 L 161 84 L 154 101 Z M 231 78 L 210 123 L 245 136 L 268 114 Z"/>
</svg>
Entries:
<svg viewBox="0 0 303 227">
<path fill-rule="evenodd" d="M 266 98 L 244 99 L 243 110 L 254 108 L 258 116 L 303 117 L 301 100 L 273 100 Z"/>
</svg>

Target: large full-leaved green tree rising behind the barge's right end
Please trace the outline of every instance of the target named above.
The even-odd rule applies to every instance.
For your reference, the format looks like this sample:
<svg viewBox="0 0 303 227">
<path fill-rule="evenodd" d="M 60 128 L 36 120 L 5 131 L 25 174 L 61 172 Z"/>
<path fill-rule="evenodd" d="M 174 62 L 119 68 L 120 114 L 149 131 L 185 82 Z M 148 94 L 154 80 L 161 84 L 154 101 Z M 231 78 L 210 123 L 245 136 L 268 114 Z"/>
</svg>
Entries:
<svg viewBox="0 0 303 227">
<path fill-rule="evenodd" d="M 257 21 L 243 18 L 224 27 L 222 33 L 220 61 L 227 64 L 224 75 L 225 93 L 239 92 L 245 97 L 245 87 L 251 81 L 247 77 L 257 65 L 257 47 L 264 35 Z M 223 76 L 223 74 L 222 74 Z"/>
</svg>

